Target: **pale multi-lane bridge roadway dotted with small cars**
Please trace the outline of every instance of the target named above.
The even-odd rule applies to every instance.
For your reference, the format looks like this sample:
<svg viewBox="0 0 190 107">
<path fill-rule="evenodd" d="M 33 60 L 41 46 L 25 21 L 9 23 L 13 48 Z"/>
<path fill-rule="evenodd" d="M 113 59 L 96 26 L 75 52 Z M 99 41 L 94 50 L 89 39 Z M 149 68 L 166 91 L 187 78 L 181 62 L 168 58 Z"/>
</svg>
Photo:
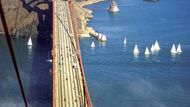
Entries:
<svg viewBox="0 0 190 107">
<path fill-rule="evenodd" d="M 76 45 L 68 2 L 54 0 L 53 107 L 92 107 Z"/>
</svg>

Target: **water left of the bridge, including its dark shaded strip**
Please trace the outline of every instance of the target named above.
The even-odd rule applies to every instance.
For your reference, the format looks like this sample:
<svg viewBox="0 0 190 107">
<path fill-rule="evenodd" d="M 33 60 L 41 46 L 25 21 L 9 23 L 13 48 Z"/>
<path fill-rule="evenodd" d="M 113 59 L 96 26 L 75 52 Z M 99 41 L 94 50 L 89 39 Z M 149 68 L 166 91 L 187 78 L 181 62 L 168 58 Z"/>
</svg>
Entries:
<svg viewBox="0 0 190 107">
<path fill-rule="evenodd" d="M 51 64 L 46 62 L 51 45 L 33 38 L 33 46 L 26 46 L 28 39 L 13 39 L 23 86 L 30 107 L 52 107 Z M 0 107 L 24 107 L 4 36 L 0 36 Z"/>
</svg>

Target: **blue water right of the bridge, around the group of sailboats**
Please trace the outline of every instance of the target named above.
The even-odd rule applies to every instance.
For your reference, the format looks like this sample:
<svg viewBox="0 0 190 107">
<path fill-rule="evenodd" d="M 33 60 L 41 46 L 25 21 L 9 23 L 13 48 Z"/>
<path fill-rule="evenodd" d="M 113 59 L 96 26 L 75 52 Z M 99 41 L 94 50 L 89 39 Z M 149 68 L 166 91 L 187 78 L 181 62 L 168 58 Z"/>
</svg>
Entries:
<svg viewBox="0 0 190 107">
<path fill-rule="evenodd" d="M 190 107 L 190 1 L 117 0 L 116 14 L 108 13 L 110 3 L 87 6 L 94 11 L 89 26 L 108 41 L 80 39 L 94 107 Z M 145 47 L 156 40 L 160 52 L 145 57 Z M 173 43 L 181 44 L 181 54 L 170 54 Z M 138 57 L 133 55 L 135 44 Z"/>
</svg>

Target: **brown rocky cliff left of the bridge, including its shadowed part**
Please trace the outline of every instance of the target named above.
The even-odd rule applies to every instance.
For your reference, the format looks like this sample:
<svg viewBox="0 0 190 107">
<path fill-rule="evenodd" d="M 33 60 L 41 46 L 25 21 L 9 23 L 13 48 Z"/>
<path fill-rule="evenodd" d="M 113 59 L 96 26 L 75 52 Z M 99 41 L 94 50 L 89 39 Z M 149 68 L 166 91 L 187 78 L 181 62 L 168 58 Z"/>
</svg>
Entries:
<svg viewBox="0 0 190 107">
<path fill-rule="evenodd" d="M 1 3 L 11 35 L 47 36 L 51 33 L 51 1 L 1 0 Z M 0 32 L 3 32 L 1 20 Z"/>
</svg>

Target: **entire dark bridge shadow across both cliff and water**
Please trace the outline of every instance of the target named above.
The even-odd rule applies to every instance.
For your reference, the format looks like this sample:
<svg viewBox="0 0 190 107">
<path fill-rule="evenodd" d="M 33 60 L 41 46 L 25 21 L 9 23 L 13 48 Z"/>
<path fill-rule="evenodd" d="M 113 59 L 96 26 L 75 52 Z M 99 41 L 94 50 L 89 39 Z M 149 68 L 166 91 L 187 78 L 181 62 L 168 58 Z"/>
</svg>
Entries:
<svg viewBox="0 0 190 107">
<path fill-rule="evenodd" d="M 38 37 L 32 47 L 32 69 L 27 96 L 31 107 L 52 106 L 51 64 L 46 62 L 52 49 L 52 1 L 51 0 L 21 0 L 23 7 L 29 12 L 37 13 L 39 24 Z M 45 9 L 40 8 L 43 7 Z M 29 49 L 31 50 L 31 49 Z"/>
</svg>

